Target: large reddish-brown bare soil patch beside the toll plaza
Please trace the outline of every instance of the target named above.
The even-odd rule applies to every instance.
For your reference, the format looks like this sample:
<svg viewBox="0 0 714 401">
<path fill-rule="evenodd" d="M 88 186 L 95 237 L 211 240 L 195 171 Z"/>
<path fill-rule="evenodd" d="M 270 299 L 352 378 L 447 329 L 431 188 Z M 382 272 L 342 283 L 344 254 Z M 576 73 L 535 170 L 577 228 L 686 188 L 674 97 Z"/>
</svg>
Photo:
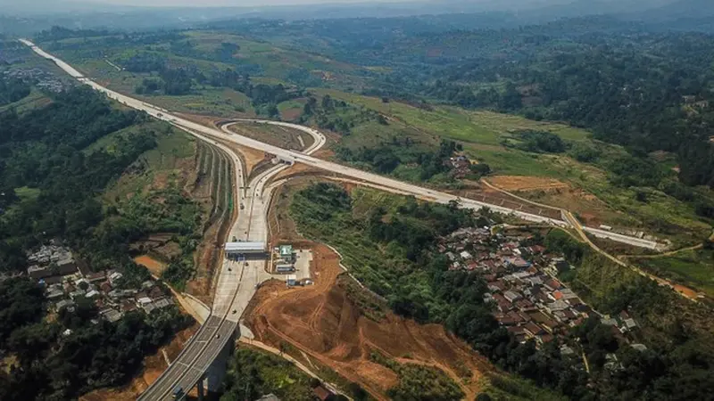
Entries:
<svg viewBox="0 0 714 401">
<path fill-rule="evenodd" d="M 299 188 L 309 178 L 297 177 L 289 185 Z M 295 358 L 318 362 L 349 381 L 357 382 L 378 399 L 388 399 L 386 390 L 397 383 L 396 374 L 370 360 L 378 351 L 403 363 L 428 364 L 447 372 L 459 383 L 468 399 L 479 389 L 484 372 L 493 367 L 437 324 L 419 324 L 380 311 L 379 321 L 361 313 L 340 282 L 351 280 L 339 266 L 339 257 L 328 246 L 304 240 L 287 216 L 289 191 L 283 188 L 274 198 L 270 212 L 271 240 L 292 241 L 294 246 L 313 252 L 311 273 L 314 285 L 287 289 L 284 282 L 265 283 L 246 311 L 246 323 L 256 339 L 279 348 L 287 343 L 295 348 Z M 370 296 L 367 293 L 367 296 Z M 401 359 L 400 359 L 401 358 Z M 459 372 L 469 372 L 464 378 Z"/>
</svg>

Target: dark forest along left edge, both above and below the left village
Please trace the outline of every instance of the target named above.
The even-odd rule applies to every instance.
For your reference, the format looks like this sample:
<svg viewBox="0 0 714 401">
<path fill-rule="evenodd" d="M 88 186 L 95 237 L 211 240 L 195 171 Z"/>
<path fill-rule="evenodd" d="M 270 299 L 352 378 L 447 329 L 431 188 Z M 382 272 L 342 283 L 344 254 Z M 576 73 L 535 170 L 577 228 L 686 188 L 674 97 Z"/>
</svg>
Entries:
<svg viewBox="0 0 714 401">
<path fill-rule="evenodd" d="M 154 147 L 154 133 L 138 129 L 112 151 L 85 151 L 145 116 L 116 110 L 87 87 L 52 96 L 44 108 L 0 113 L 0 269 L 23 271 L 26 250 L 59 239 L 92 269 L 118 269 L 126 284 L 138 285 L 149 274 L 129 258 L 129 242 L 153 227 L 104 209 L 97 195 Z M 0 354 L 15 358 L 0 374 L 0 398 L 71 399 L 126 382 L 145 354 L 190 323 L 176 307 L 109 323 L 90 299 L 78 299 L 74 313 L 48 313 L 36 282 L 0 282 Z"/>
</svg>

